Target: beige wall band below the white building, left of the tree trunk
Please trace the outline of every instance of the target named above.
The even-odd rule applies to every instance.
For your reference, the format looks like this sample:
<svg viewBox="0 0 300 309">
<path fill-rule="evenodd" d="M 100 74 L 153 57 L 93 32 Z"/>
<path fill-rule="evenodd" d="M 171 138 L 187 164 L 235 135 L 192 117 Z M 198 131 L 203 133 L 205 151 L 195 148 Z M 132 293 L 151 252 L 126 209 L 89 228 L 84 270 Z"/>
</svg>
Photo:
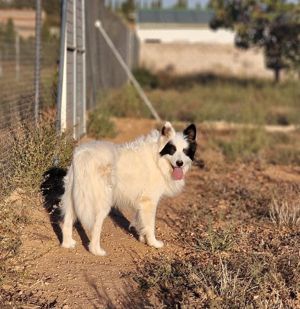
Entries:
<svg viewBox="0 0 300 309">
<path fill-rule="evenodd" d="M 272 78 L 261 50 L 240 50 L 233 44 L 142 43 L 140 65 L 174 74 L 216 73 Z"/>
</svg>

